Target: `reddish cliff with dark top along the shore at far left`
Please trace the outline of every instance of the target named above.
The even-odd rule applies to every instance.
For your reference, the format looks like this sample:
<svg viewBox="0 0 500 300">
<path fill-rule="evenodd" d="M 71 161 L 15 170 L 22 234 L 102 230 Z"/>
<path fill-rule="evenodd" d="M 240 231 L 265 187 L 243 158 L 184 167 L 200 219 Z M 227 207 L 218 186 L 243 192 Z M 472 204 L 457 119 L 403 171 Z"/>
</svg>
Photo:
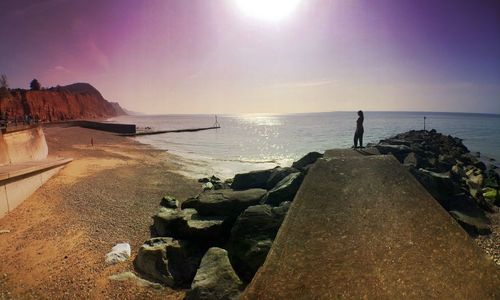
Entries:
<svg viewBox="0 0 500 300">
<path fill-rule="evenodd" d="M 0 111 L 9 119 L 32 115 L 42 122 L 106 118 L 126 114 L 118 103 L 108 102 L 88 83 L 75 83 L 47 90 L 11 90 L 0 100 Z"/>
</svg>

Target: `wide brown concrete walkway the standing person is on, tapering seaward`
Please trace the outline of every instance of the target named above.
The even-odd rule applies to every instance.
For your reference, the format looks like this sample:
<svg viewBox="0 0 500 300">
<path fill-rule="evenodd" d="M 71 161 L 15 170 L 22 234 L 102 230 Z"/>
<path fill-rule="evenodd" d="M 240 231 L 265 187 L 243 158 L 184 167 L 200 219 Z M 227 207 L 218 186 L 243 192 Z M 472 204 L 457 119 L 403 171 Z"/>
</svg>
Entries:
<svg viewBox="0 0 500 300">
<path fill-rule="evenodd" d="M 394 157 L 347 154 L 311 168 L 242 299 L 500 298 L 499 268 Z"/>
</svg>

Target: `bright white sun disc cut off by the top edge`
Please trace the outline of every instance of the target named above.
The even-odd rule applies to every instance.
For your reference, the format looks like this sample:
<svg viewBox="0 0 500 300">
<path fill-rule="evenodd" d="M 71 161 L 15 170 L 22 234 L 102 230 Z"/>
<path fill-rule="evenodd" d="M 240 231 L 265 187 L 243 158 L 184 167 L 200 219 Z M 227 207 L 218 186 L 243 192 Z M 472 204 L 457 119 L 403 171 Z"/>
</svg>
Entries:
<svg viewBox="0 0 500 300">
<path fill-rule="evenodd" d="M 301 0 L 235 0 L 240 10 L 256 19 L 277 22 L 289 16 Z"/>
</svg>

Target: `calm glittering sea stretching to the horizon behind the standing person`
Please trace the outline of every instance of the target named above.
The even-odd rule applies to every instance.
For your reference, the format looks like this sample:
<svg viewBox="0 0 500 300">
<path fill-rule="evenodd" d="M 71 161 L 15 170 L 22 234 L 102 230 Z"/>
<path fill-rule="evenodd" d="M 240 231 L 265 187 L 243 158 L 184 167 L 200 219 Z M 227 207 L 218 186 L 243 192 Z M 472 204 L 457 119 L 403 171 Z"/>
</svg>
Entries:
<svg viewBox="0 0 500 300">
<path fill-rule="evenodd" d="M 364 112 L 364 141 L 377 143 L 409 130 L 435 129 L 463 139 L 486 161 L 500 160 L 500 115 L 438 112 Z M 219 129 L 134 137 L 176 155 L 180 173 L 199 178 L 290 166 L 308 152 L 349 148 L 356 112 L 217 115 Z M 119 116 L 108 121 L 139 129 L 174 130 L 214 125 L 214 115 Z M 494 159 L 494 162 L 491 162 Z"/>
</svg>

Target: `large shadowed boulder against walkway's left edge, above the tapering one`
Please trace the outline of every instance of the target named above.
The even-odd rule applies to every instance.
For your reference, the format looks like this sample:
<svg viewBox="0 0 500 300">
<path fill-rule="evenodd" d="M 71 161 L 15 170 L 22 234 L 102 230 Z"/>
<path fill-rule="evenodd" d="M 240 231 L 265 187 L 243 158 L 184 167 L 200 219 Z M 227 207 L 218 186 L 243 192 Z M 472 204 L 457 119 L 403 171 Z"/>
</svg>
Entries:
<svg viewBox="0 0 500 300">
<path fill-rule="evenodd" d="M 283 202 L 279 207 L 250 206 L 236 220 L 228 251 L 243 280 L 249 282 L 264 263 L 289 207 L 290 202 Z"/>
</svg>

